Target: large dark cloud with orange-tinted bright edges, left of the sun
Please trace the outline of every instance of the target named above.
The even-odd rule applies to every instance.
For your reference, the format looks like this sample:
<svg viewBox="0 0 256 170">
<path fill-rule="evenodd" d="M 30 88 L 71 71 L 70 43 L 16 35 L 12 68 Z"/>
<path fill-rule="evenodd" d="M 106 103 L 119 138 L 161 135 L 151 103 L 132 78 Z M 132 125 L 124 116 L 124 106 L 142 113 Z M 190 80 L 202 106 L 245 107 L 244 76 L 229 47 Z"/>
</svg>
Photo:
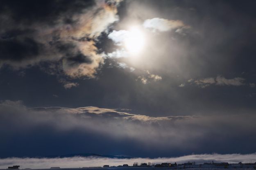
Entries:
<svg viewBox="0 0 256 170">
<path fill-rule="evenodd" d="M 94 77 L 103 61 L 95 42 L 109 24 L 118 20 L 118 1 L 0 3 L 1 66 L 20 69 L 57 62 L 63 67 L 55 74 Z"/>
</svg>

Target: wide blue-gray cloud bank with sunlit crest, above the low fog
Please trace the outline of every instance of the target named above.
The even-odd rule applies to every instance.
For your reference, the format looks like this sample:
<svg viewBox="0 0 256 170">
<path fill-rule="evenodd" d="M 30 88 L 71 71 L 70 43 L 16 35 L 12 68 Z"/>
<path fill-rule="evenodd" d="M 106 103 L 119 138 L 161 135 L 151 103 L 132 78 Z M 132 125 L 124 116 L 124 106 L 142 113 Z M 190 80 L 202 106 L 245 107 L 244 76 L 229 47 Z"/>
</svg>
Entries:
<svg viewBox="0 0 256 170">
<path fill-rule="evenodd" d="M 255 141 L 253 130 L 255 115 L 250 111 L 243 116 L 236 113 L 233 116 L 150 117 L 93 106 L 29 109 L 20 102 L 11 101 L 2 102 L 0 111 L 0 135 L 5 139 L 0 142 L 1 150 L 3 150 L 1 157 L 5 157 L 7 151 L 9 155 L 14 156 L 36 154 L 41 152 L 41 149 L 37 148 L 41 145 L 49 145 L 49 148 L 45 149 L 43 153 L 50 155 L 57 152 L 58 149 L 54 149 L 52 146 L 59 142 L 66 147 L 77 143 L 78 147 L 84 148 L 83 150 L 88 150 L 88 147 L 97 150 L 98 145 L 109 146 L 107 143 L 110 140 L 111 149 L 119 150 L 123 147 L 119 146 L 119 141 L 122 141 L 123 145 L 128 145 L 131 139 L 133 147 L 140 149 L 133 150 L 130 148 L 132 146 L 128 145 L 126 148 L 122 148 L 122 152 L 144 155 L 138 152 L 141 150 L 145 152 L 147 148 L 151 148 L 149 155 L 154 155 L 155 152 L 165 155 L 171 151 L 189 154 L 195 150 L 197 152 L 204 150 L 204 152 L 210 153 L 245 153 L 248 150 L 239 149 L 238 146 L 251 145 Z M 9 127 L 8 131 L 4 128 L 7 126 Z M 26 135 L 21 137 L 20 135 L 16 136 L 17 134 Z M 8 136 L 19 137 L 17 142 L 20 145 L 15 146 L 15 142 L 11 142 L 12 138 L 8 138 Z M 58 137 L 54 139 L 53 136 Z M 81 138 L 83 136 L 85 138 Z M 44 144 L 45 140 L 41 141 L 41 137 L 48 138 L 52 144 Z M 79 141 L 65 141 L 65 138 L 77 137 Z M 97 145 L 95 145 L 94 139 L 97 137 L 104 140 L 97 141 Z M 247 140 L 238 140 L 238 137 Z M 127 141 L 125 142 L 125 140 Z M 232 145 L 226 145 L 234 140 L 236 142 Z M 35 150 L 26 150 L 23 153 L 24 150 L 20 147 L 26 142 L 32 142 L 32 148 Z M 220 142 L 224 144 L 224 147 L 218 146 Z M 109 149 L 107 152 L 110 152 Z M 251 151 L 251 149 L 254 148 L 249 150 Z M 20 151 L 16 152 L 16 150 Z M 69 152 L 77 152 L 77 148 L 71 147 Z M 173 155 L 175 155 L 174 153 Z"/>
</svg>

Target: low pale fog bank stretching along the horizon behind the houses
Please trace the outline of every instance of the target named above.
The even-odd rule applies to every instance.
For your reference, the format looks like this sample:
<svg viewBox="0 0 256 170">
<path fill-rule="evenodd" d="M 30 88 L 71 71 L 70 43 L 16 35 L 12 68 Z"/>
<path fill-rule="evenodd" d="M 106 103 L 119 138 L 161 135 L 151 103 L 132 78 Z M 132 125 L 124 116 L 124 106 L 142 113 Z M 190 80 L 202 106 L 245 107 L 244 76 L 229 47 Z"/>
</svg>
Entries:
<svg viewBox="0 0 256 170">
<path fill-rule="evenodd" d="M 20 165 L 20 168 L 79 168 L 79 167 L 97 167 L 103 165 L 118 166 L 128 164 L 132 166 L 134 162 L 140 163 L 186 163 L 195 161 L 196 163 L 204 163 L 209 161 L 214 162 L 230 162 L 247 163 L 256 159 L 256 153 L 253 154 L 201 154 L 201 155 L 186 155 L 183 157 L 159 157 L 159 158 L 134 158 L 134 159 L 113 159 L 113 158 L 95 158 L 95 157 L 69 157 L 69 158 L 18 158 L 10 157 L 0 159 L 0 168 L 6 169 L 8 166 Z"/>
</svg>

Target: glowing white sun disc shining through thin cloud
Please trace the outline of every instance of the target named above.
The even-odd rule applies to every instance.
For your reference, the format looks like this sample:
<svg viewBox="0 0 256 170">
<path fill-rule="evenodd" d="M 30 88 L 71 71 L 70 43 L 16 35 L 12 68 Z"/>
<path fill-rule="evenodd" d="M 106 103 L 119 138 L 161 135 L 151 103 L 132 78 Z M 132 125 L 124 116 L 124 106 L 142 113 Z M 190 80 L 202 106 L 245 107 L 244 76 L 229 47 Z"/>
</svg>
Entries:
<svg viewBox="0 0 256 170">
<path fill-rule="evenodd" d="M 125 48 L 130 53 L 137 54 L 143 49 L 145 44 L 144 35 L 138 28 L 132 28 L 129 32 L 129 36 L 125 39 Z"/>
</svg>

